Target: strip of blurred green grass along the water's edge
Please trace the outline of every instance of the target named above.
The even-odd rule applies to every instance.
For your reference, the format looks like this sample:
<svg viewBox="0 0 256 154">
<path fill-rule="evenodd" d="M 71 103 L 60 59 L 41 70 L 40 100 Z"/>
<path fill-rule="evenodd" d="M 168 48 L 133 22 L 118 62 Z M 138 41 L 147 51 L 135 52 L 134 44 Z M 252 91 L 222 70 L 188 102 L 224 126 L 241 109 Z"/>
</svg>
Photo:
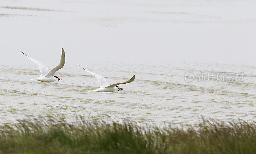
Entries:
<svg viewBox="0 0 256 154">
<path fill-rule="evenodd" d="M 0 126 L 0 153 L 256 153 L 256 123 L 202 120 L 194 127 L 141 127 L 76 116 Z"/>
</svg>

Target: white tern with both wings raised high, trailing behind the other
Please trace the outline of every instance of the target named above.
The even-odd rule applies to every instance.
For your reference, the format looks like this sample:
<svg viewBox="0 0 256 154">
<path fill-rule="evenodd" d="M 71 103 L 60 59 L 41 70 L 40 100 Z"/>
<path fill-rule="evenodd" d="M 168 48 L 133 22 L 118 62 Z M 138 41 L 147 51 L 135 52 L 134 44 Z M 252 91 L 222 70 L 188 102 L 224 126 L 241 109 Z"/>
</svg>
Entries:
<svg viewBox="0 0 256 154">
<path fill-rule="evenodd" d="M 54 73 L 57 72 L 59 69 L 61 69 L 65 64 L 65 52 L 62 47 L 61 47 L 61 49 L 62 49 L 62 53 L 61 53 L 60 62 L 58 65 L 56 65 L 54 68 L 52 68 L 52 70 L 49 73 L 47 73 L 48 68 L 44 64 L 40 63 L 39 61 L 29 57 L 24 52 L 20 51 L 39 66 L 41 75 L 39 78 L 32 79 L 32 80 L 37 80 L 37 81 L 41 81 L 41 82 L 54 82 L 56 80 L 58 80 L 58 81 L 61 80 L 57 76 L 54 76 Z"/>
</svg>

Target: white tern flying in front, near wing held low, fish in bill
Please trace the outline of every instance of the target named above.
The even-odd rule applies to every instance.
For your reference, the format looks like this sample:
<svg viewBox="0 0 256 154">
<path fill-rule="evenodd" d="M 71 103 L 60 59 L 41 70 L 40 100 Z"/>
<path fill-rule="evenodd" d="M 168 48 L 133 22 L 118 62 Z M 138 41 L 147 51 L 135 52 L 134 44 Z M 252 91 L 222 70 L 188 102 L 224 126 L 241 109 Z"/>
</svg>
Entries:
<svg viewBox="0 0 256 154">
<path fill-rule="evenodd" d="M 78 64 L 77 64 L 77 65 L 78 65 Z M 79 65 L 79 66 L 80 66 L 80 65 Z M 80 66 L 80 67 L 82 67 L 82 66 Z M 97 91 L 97 92 L 113 92 L 113 91 L 115 91 L 115 90 L 117 90 L 117 89 L 118 89 L 118 91 L 119 91 L 119 90 L 123 90 L 123 88 L 120 88 L 120 87 L 118 87 L 117 85 L 119 85 L 119 84 L 125 84 L 125 83 L 130 83 L 130 82 L 134 81 L 134 79 L 135 79 L 135 75 L 133 75 L 132 78 L 131 78 L 130 80 L 128 80 L 128 81 L 121 82 L 121 83 L 115 83 L 115 84 L 109 85 L 109 84 L 107 83 L 106 79 L 105 79 L 103 76 L 101 76 L 101 75 L 99 75 L 99 74 L 96 74 L 96 73 L 93 73 L 93 72 L 91 72 L 91 71 L 85 69 L 84 67 L 82 67 L 82 68 L 83 68 L 85 71 L 87 71 L 87 72 L 91 73 L 92 75 L 94 75 L 94 76 L 98 79 L 98 81 L 100 82 L 100 88 L 98 88 L 98 89 L 96 89 L 96 90 L 93 90 L 93 91 Z M 118 91 L 117 91 L 117 92 L 118 92 Z"/>
</svg>

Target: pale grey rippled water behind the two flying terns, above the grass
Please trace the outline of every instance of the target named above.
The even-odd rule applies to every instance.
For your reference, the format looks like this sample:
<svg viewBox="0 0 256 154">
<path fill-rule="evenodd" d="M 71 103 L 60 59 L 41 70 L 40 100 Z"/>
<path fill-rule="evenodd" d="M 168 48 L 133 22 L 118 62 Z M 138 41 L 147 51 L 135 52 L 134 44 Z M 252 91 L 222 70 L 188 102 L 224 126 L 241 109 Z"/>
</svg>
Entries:
<svg viewBox="0 0 256 154">
<path fill-rule="evenodd" d="M 3 0 L 0 123 L 74 113 L 157 125 L 256 120 L 256 2 L 246 2 Z M 61 46 L 62 81 L 30 80 L 40 72 L 19 49 L 51 69 Z M 89 92 L 100 84 L 76 62 L 109 84 L 136 78 L 119 93 Z M 244 73 L 244 81 L 187 83 L 186 72 Z"/>
</svg>

